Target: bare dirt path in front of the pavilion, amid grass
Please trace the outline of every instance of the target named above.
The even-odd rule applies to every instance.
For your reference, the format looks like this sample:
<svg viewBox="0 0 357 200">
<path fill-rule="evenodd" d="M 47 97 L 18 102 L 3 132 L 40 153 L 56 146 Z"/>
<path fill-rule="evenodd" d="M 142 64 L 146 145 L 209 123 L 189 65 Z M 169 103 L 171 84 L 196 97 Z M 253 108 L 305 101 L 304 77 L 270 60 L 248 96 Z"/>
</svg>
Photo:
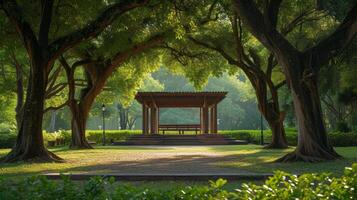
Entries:
<svg viewBox="0 0 357 200">
<path fill-rule="evenodd" d="M 83 160 L 69 159 L 69 162 L 81 162 L 81 167 L 72 168 L 73 173 L 88 174 L 236 174 L 247 173 L 245 170 L 222 166 L 237 156 L 224 152 L 203 152 L 202 148 L 190 148 L 180 152 L 113 152 L 91 154 Z"/>
</svg>

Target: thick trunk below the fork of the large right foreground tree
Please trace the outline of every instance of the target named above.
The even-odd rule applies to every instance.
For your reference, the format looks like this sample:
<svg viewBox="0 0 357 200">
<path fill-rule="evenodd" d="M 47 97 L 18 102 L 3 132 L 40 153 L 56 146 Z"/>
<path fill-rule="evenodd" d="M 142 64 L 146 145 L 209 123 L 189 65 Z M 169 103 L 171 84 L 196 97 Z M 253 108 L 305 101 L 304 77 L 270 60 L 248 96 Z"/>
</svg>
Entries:
<svg viewBox="0 0 357 200">
<path fill-rule="evenodd" d="M 300 59 L 303 60 L 303 59 Z M 292 65 L 289 69 L 290 88 L 298 123 L 298 145 L 294 152 L 278 159 L 279 162 L 318 162 L 340 158 L 328 141 L 316 72 L 312 67 Z"/>
</svg>

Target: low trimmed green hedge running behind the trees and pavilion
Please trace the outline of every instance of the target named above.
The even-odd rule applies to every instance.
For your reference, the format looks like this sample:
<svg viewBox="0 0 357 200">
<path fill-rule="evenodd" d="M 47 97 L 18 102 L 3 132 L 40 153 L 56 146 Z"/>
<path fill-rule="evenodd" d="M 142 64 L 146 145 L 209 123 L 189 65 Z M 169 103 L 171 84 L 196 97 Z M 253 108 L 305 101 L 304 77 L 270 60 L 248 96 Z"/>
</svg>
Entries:
<svg viewBox="0 0 357 200">
<path fill-rule="evenodd" d="M 286 138 L 288 144 L 296 146 L 297 144 L 297 131 L 296 129 L 287 128 Z M 141 130 L 107 130 L 105 131 L 108 142 L 113 139 L 114 141 L 123 141 L 133 134 L 141 134 Z M 176 132 L 167 132 L 167 134 L 177 134 Z M 237 140 L 246 140 L 250 143 L 260 143 L 260 130 L 221 130 L 219 134 L 224 134 Z M 88 130 L 86 133 L 88 141 L 102 143 L 103 131 L 101 130 Z M 357 146 L 357 131 L 353 132 L 331 132 L 329 139 L 333 146 Z M 47 145 L 49 141 L 55 145 L 69 144 L 71 141 L 71 132 L 62 130 L 55 133 L 44 132 L 44 140 Z M 16 135 L 11 133 L 0 133 L 0 148 L 11 148 L 16 141 Z M 264 130 L 264 142 L 271 141 L 271 131 Z"/>
</svg>

